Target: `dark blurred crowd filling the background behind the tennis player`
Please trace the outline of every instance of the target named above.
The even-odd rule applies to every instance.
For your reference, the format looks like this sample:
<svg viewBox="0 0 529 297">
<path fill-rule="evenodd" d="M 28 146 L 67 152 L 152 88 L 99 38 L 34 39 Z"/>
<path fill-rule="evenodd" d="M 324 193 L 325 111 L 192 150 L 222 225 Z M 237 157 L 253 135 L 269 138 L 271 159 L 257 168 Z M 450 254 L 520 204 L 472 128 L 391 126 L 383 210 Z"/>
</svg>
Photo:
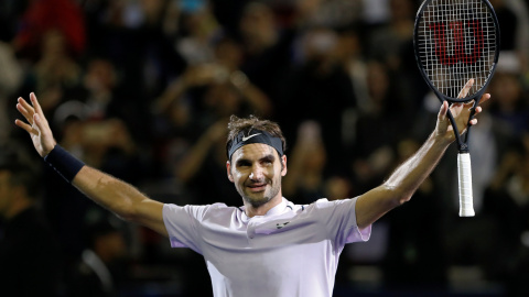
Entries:
<svg viewBox="0 0 529 297">
<path fill-rule="evenodd" d="M 379 289 L 442 290 L 452 267 L 476 267 L 481 284 L 529 296 L 529 4 L 490 2 L 501 56 L 471 136 L 476 217 L 457 217 L 452 145 L 370 242 L 346 248 L 336 296 L 361 286 L 365 266 L 379 268 Z M 18 97 L 36 94 L 66 150 L 163 202 L 241 205 L 226 176 L 230 114 L 281 125 L 288 199 L 355 197 L 434 128 L 439 100 L 413 55 L 420 4 L 0 1 L 0 295 L 12 284 L 29 293 L 6 296 L 210 296 L 199 255 L 123 223 L 43 164 L 13 124 Z"/>
</svg>

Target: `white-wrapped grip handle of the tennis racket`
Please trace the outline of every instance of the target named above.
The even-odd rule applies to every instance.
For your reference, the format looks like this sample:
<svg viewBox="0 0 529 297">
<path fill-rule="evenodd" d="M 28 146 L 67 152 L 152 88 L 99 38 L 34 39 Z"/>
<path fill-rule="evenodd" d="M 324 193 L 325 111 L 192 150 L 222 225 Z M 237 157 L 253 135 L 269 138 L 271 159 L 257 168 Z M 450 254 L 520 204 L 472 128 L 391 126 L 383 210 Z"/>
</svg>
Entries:
<svg viewBox="0 0 529 297">
<path fill-rule="evenodd" d="M 460 217 L 474 217 L 469 153 L 457 154 L 457 177 L 460 182 Z"/>
</svg>

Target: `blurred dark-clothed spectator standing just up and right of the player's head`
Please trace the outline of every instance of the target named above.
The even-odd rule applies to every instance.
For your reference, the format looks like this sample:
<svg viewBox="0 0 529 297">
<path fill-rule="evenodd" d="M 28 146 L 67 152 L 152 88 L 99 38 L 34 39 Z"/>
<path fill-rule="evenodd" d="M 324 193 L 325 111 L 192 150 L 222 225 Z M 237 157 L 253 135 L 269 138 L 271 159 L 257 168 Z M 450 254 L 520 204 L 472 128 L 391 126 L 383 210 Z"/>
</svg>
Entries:
<svg viewBox="0 0 529 297">
<path fill-rule="evenodd" d="M 328 29 L 311 29 L 300 46 L 301 64 L 295 65 L 281 85 L 279 121 L 288 123 L 284 133 L 295 142 L 298 127 L 313 120 L 322 128 L 327 152 L 324 174 L 344 174 L 344 111 L 356 107 L 350 77 L 336 57 L 337 34 Z M 295 110 L 295 112 L 292 112 Z M 332 144 L 332 145 L 331 145 Z"/>
</svg>

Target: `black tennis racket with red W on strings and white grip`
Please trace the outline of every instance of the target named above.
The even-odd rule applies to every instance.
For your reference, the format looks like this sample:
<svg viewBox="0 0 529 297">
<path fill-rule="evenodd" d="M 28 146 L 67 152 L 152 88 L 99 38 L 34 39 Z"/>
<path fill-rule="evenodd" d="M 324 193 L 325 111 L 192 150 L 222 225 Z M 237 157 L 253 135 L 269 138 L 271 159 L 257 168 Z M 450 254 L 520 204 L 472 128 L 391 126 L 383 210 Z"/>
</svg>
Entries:
<svg viewBox="0 0 529 297">
<path fill-rule="evenodd" d="M 425 0 L 415 16 L 415 59 L 422 77 L 441 102 L 471 102 L 471 121 L 499 55 L 499 26 L 487 0 Z M 473 217 L 471 125 L 460 135 L 447 112 L 457 141 L 460 217 Z"/>
</svg>

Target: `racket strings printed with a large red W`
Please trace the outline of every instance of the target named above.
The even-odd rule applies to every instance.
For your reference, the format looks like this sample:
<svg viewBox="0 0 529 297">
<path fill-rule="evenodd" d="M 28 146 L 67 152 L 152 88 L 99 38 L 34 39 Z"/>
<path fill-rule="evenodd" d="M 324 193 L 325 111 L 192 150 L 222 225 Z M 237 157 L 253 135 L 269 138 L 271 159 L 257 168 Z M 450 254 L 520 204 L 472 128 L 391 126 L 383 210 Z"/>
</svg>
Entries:
<svg viewBox="0 0 529 297">
<path fill-rule="evenodd" d="M 473 78 L 466 97 L 477 94 L 494 67 L 496 30 L 489 8 L 481 0 L 433 0 L 419 21 L 419 58 L 433 86 L 457 98 Z"/>
</svg>

